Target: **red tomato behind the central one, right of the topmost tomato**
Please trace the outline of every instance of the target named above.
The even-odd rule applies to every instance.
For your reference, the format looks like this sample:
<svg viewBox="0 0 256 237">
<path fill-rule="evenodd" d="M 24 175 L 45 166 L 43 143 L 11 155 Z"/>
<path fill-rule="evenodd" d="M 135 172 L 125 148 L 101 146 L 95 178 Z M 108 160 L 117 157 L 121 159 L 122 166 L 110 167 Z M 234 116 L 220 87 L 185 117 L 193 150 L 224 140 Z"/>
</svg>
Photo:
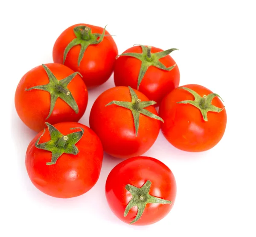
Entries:
<svg viewBox="0 0 256 237">
<path fill-rule="evenodd" d="M 134 46 L 116 60 L 114 81 L 116 86 L 131 86 L 149 100 L 157 102 L 179 86 L 180 72 L 170 52 L 155 47 Z"/>
</svg>

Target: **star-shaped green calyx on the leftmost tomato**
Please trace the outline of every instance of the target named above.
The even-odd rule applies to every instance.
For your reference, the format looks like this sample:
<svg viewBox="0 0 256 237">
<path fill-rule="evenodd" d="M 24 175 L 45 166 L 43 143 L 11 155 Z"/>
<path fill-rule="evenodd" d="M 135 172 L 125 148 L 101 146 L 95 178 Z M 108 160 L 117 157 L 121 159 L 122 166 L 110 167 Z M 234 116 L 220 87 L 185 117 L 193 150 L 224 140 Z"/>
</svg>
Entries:
<svg viewBox="0 0 256 237">
<path fill-rule="evenodd" d="M 46 65 L 42 64 L 42 67 L 47 73 L 47 76 L 49 78 L 49 83 L 41 86 L 33 86 L 25 90 L 30 91 L 30 90 L 38 89 L 38 90 L 48 91 L 50 93 L 51 95 L 50 111 L 46 119 L 48 119 L 52 114 L 52 110 L 55 106 L 55 103 L 58 97 L 64 100 L 77 114 L 79 111 L 78 105 L 73 95 L 71 94 L 70 90 L 67 89 L 67 85 L 70 83 L 71 80 L 73 80 L 74 77 L 76 77 L 76 74 L 79 74 L 80 76 L 81 74 L 79 72 L 74 72 L 62 80 L 57 80 L 57 78 L 54 76 L 54 74 L 50 71 L 50 69 Z"/>
</svg>

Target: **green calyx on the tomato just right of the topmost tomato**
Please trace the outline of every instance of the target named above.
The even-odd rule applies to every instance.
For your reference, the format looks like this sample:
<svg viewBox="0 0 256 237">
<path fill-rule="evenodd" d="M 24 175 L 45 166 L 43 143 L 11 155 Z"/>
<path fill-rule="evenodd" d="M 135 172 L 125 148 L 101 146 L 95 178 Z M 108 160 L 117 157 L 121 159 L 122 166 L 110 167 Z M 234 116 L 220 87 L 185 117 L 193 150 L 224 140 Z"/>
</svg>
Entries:
<svg viewBox="0 0 256 237">
<path fill-rule="evenodd" d="M 170 54 L 172 51 L 177 50 L 177 49 L 168 49 L 166 51 L 151 53 L 151 46 L 143 46 L 143 45 L 139 45 L 139 46 L 142 49 L 142 53 L 124 53 L 124 54 L 118 55 L 118 56 L 135 57 L 141 61 L 137 90 L 139 89 L 140 83 L 150 66 L 154 66 L 165 71 L 171 71 L 176 66 L 176 64 L 169 68 L 166 68 L 166 66 L 164 66 L 163 63 L 161 63 L 159 60 L 160 58 Z"/>
</svg>

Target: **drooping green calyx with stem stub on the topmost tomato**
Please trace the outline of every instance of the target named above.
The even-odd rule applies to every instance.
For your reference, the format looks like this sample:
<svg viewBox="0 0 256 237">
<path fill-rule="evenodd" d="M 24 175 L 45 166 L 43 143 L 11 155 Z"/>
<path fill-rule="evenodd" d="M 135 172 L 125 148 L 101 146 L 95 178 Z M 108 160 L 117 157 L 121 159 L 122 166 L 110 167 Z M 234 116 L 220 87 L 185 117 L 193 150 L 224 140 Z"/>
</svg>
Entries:
<svg viewBox="0 0 256 237">
<path fill-rule="evenodd" d="M 81 45 L 81 49 L 78 56 L 78 62 L 77 62 L 78 66 L 80 66 L 81 60 L 84 57 L 84 52 L 87 49 L 87 47 L 91 44 L 99 44 L 100 42 L 102 42 L 104 36 L 106 36 L 105 29 L 106 29 L 106 26 L 102 34 L 99 34 L 99 33 L 93 34 L 91 29 L 88 26 L 76 26 L 73 29 L 76 35 L 76 39 L 72 40 L 65 48 L 64 56 L 63 56 L 63 64 L 65 63 L 67 53 L 70 51 L 70 49 L 76 45 Z"/>
</svg>

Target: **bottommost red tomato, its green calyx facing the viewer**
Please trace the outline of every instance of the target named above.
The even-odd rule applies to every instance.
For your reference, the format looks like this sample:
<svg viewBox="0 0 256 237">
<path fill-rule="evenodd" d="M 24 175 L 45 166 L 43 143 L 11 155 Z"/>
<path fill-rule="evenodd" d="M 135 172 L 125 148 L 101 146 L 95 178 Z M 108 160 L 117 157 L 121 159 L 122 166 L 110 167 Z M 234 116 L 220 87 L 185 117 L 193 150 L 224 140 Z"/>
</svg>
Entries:
<svg viewBox="0 0 256 237">
<path fill-rule="evenodd" d="M 172 171 L 151 157 L 133 157 L 115 166 L 106 181 L 108 205 L 123 222 L 153 224 L 165 217 L 175 202 Z"/>
</svg>

